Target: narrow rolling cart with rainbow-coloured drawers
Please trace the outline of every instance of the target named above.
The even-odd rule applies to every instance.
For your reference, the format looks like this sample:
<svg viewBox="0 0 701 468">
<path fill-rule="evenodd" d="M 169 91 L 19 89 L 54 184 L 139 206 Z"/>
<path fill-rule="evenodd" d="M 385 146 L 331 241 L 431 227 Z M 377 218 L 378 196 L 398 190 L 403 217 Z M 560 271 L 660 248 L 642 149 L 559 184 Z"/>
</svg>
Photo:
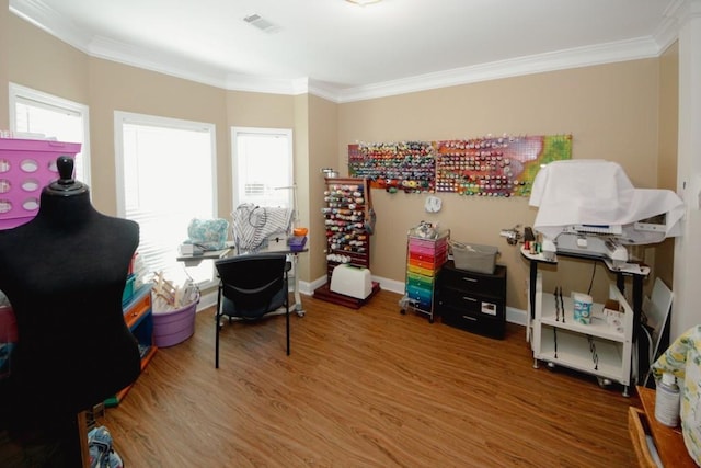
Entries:
<svg viewBox="0 0 701 468">
<path fill-rule="evenodd" d="M 428 316 L 434 322 L 436 278 L 448 260 L 450 230 L 436 238 L 426 238 L 409 232 L 406 239 L 406 293 L 401 300 L 402 313 L 411 310 Z"/>
</svg>

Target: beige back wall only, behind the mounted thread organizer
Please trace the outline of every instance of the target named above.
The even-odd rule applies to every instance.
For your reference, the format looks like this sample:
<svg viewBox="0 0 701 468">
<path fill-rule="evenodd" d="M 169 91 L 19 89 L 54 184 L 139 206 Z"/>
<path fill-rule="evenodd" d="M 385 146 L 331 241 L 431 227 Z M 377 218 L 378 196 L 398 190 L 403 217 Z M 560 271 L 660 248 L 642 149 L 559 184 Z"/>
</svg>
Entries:
<svg viewBox="0 0 701 468">
<path fill-rule="evenodd" d="M 655 187 L 658 82 L 658 60 L 635 60 L 342 104 L 337 164 L 347 171 L 347 145 L 356 141 L 567 133 L 574 158 L 619 162 L 635 186 Z M 403 281 L 407 229 L 434 221 L 450 229 L 456 240 L 497 246 L 499 262 L 508 269 L 507 304 L 526 309 L 528 264 L 498 233 L 532 224 L 536 210 L 528 199 L 444 194 L 443 210 L 429 215 L 423 209 L 425 196 L 372 193 L 378 216 L 372 274 Z M 556 272 L 550 270 L 548 289 L 554 284 L 567 294 L 588 288 L 589 263 L 563 261 Z M 595 297 L 608 294 L 608 279 L 599 267 Z"/>
</svg>

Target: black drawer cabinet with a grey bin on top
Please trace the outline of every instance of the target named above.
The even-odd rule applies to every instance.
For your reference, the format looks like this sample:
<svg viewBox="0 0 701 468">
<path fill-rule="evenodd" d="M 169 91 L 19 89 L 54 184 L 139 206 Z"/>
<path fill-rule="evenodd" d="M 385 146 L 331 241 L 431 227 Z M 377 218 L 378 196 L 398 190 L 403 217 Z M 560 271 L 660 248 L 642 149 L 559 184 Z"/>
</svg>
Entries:
<svg viewBox="0 0 701 468">
<path fill-rule="evenodd" d="M 443 323 L 503 339 L 506 331 L 506 266 L 494 273 L 458 270 L 452 260 L 438 273 L 436 313 Z"/>
</svg>

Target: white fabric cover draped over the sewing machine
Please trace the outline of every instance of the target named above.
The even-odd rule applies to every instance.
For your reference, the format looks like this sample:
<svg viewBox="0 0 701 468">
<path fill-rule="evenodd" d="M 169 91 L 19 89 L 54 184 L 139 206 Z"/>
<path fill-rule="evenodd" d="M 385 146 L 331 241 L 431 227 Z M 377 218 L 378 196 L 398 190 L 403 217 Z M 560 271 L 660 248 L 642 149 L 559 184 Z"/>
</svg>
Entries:
<svg viewBox="0 0 701 468">
<path fill-rule="evenodd" d="M 533 228 L 555 239 L 573 225 L 622 226 L 621 241 L 652 243 L 679 235 L 683 202 L 668 190 L 635 189 L 616 162 L 553 161 L 540 169 L 529 204 L 537 206 Z M 667 214 L 666 232 L 643 232 L 633 224 Z"/>
</svg>

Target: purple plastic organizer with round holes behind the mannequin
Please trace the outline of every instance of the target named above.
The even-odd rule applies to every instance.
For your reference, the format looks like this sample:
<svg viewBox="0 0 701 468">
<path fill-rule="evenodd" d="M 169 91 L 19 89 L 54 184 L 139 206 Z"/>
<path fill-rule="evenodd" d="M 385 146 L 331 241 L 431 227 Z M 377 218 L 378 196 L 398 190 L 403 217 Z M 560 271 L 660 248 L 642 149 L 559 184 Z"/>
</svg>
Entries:
<svg viewBox="0 0 701 468">
<path fill-rule="evenodd" d="M 56 160 L 78 152 L 76 142 L 0 138 L 0 229 L 36 216 L 42 190 L 58 179 Z"/>
</svg>

